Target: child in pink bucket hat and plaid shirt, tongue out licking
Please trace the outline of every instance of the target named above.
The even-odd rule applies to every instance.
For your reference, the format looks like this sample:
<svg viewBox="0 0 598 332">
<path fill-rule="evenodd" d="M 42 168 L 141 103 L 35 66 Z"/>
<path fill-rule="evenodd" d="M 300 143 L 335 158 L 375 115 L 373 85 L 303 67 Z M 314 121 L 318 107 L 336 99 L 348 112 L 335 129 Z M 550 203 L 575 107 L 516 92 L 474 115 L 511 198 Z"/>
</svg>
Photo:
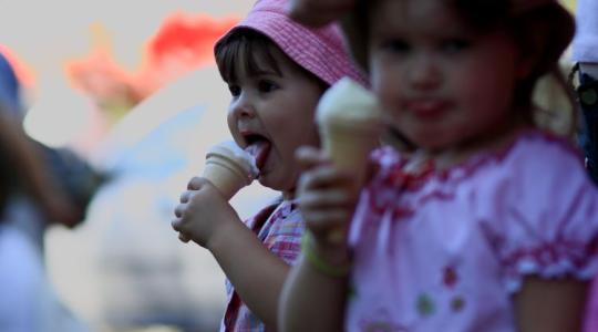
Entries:
<svg viewBox="0 0 598 332">
<path fill-rule="evenodd" d="M 207 180 L 194 178 L 173 221 L 183 238 L 212 251 L 228 278 L 221 331 L 276 330 L 280 289 L 305 229 L 295 149 L 319 145 L 313 114 L 328 86 L 343 76 L 364 84 L 338 27 L 299 25 L 286 17 L 286 6 L 257 1 L 215 46 L 231 95 L 230 133 L 256 157 L 259 183 L 281 191 L 281 199 L 241 222 Z"/>
</svg>

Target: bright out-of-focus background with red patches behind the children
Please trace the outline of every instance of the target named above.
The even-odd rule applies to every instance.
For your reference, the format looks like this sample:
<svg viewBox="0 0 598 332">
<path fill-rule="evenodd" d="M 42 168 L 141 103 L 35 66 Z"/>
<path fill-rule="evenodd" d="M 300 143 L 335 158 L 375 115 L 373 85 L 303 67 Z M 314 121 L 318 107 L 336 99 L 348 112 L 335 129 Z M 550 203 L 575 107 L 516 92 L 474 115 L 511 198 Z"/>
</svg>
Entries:
<svg viewBox="0 0 598 332">
<path fill-rule="evenodd" d="M 251 4 L 0 0 L 27 133 L 107 178 L 79 227 L 45 232 L 50 280 L 91 331 L 218 329 L 224 274 L 169 222 L 207 148 L 229 137 L 213 45 Z M 248 217 L 274 195 L 254 184 L 231 203 Z"/>
</svg>

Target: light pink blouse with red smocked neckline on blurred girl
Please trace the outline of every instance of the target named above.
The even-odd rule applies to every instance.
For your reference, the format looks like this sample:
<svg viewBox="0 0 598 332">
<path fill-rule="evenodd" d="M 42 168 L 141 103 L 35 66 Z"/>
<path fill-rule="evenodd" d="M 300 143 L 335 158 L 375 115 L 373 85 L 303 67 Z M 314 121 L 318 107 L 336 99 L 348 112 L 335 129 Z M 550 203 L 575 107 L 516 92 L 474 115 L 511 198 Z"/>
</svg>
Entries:
<svg viewBox="0 0 598 332">
<path fill-rule="evenodd" d="M 373 158 L 350 232 L 348 331 L 515 331 L 511 295 L 525 276 L 598 269 L 598 190 L 555 137 L 528 132 L 419 175 L 390 148 Z"/>
</svg>

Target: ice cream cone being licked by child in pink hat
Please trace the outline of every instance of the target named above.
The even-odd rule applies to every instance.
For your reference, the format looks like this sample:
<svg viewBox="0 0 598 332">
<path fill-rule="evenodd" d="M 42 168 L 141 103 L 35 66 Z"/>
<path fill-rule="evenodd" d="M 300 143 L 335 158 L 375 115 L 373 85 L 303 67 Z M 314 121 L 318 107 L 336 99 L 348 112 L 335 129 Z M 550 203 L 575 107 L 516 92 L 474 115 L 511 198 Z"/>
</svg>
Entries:
<svg viewBox="0 0 598 332">
<path fill-rule="evenodd" d="M 257 175 L 252 158 L 234 142 L 214 146 L 206 154 L 203 177 L 208 179 L 229 200 Z"/>
</svg>

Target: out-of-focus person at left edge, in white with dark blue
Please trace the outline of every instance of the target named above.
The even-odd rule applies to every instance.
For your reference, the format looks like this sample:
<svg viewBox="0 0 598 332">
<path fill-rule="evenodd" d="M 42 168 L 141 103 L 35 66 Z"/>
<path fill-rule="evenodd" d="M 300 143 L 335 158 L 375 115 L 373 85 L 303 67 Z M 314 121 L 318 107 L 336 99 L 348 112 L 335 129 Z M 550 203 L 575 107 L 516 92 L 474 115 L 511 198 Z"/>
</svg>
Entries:
<svg viewBox="0 0 598 332">
<path fill-rule="evenodd" d="M 0 54 L 0 331 L 86 331 L 48 278 L 44 234 L 51 225 L 79 225 L 103 177 L 23 132 L 20 93 Z"/>
</svg>

